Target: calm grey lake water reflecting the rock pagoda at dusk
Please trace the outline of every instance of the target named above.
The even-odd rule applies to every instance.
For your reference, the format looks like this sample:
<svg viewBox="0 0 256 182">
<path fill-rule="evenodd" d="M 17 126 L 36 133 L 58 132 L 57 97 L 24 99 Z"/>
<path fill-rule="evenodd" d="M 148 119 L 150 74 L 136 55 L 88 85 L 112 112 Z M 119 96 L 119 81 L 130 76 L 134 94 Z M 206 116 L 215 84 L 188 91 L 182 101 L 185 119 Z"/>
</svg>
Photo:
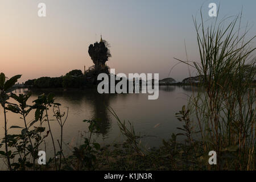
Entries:
<svg viewBox="0 0 256 182">
<path fill-rule="evenodd" d="M 18 91 L 18 90 L 17 90 Z M 53 91 L 51 91 L 53 92 Z M 159 98 L 148 100 L 148 94 L 98 94 L 96 89 L 54 91 L 55 102 L 59 102 L 63 111 L 69 107 L 68 119 L 64 126 L 64 154 L 71 154 L 72 147 L 77 146 L 81 141 L 81 134 L 88 131 L 88 123 L 82 122 L 84 119 L 96 119 L 100 130 L 94 138 L 102 146 L 123 142 L 117 121 L 109 113 L 108 107 L 117 113 L 121 121 L 130 121 L 134 125 L 137 134 L 145 136 L 142 143 L 147 147 L 158 147 L 162 139 L 168 139 L 172 133 L 178 133 L 176 127 L 180 127 L 181 122 L 175 118 L 175 113 L 187 104 L 188 96 L 193 92 L 201 92 L 201 88 L 196 86 L 159 86 Z M 33 91 L 28 100 L 32 105 L 39 94 L 43 91 Z M 48 91 L 46 94 L 49 93 Z M 19 92 L 16 92 L 19 94 Z M 10 100 L 9 102 L 14 102 Z M 0 113 L 0 137 L 4 136 L 4 117 L 1 107 Z M 8 111 L 8 127 L 13 125 L 24 126 L 20 115 Z M 54 119 L 52 109 L 49 117 Z M 28 115 L 28 122 L 33 121 L 34 111 Z M 46 124 L 46 123 L 45 123 Z M 48 129 L 47 125 L 45 126 Z M 60 127 L 57 121 L 51 121 L 53 137 L 59 139 Z M 9 129 L 9 134 L 17 134 L 20 129 Z M 52 156 L 50 137 L 46 140 L 47 158 Z M 56 143 L 57 146 L 57 143 Z M 44 146 L 42 146 L 44 149 Z M 4 147 L 1 148 L 4 150 Z M 2 169 L 2 165 L 0 166 Z"/>
</svg>

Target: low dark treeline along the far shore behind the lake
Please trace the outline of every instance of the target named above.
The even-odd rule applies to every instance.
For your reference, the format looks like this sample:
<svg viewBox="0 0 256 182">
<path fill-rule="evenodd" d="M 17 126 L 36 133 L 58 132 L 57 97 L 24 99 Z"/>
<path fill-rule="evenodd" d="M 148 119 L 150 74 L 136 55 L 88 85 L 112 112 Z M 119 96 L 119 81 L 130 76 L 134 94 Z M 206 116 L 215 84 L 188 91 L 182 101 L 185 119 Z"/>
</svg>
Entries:
<svg viewBox="0 0 256 182">
<path fill-rule="evenodd" d="M 254 68 L 255 70 L 255 68 Z M 256 71 L 255 71 L 256 72 Z M 86 74 L 87 73 L 87 74 Z M 107 71 L 109 77 L 110 74 Z M 93 73 L 93 71 L 86 71 L 82 73 L 81 70 L 75 69 L 73 71 L 68 72 L 65 76 L 60 77 L 40 77 L 33 80 L 27 80 L 24 82 L 24 85 L 19 84 L 18 87 L 21 88 L 30 88 L 30 89 L 86 89 L 86 88 L 95 88 L 97 84 L 100 82 L 97 80 L 98 73 Z M 123 78 L 121 78 L 122 80 Z M 121 81 L 120 80 L 120 81 Z M 195 77 L 187 77 L 184 80 L 178 82 L 174 78 L 164 78 L 158 81 L 159 85 L 195 85 L 200 86 L 204 83 L 204 76 L 195 76 Z M 132 81 L 132 80 L 130 80 Z M 115 84 L 119 81 L 115 80 Z M 129 80 L 127 80 L 127 85 Z M 139 80 L 139 84 L 142 85 L 143 80 Z M 149 81 L 151 84 L 154 84 L 154 79 Z M 134 83 L 133 83 L 134 84 Z M 256 84 L 256 80 L 254 80 L 253 85 Z"/>
</svg>

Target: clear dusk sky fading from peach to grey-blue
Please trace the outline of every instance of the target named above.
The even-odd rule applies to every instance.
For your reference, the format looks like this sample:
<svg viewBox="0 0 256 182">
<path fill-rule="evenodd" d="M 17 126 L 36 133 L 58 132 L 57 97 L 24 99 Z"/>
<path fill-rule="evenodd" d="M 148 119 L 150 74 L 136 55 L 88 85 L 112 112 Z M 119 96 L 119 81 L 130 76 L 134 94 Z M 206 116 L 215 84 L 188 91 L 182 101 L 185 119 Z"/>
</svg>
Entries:
<svg viewBox="0 0 256 182">
<path fill-rule="evenodd" d="M 220 4 L 220 17 L 235 16 L 243 8 L 242 27 L 256 35 L 255 0 L 0 0 L 0 72 L 21 74 L 19 82 L 42 76 L 58 77 L 72 69 L 93 65 L 90 44 L 110 43 L 106 64 L 115 73 L 159 73 L 181 81 L 188 67 L 174 57 L 199 60 L 192 15 L 200 7 L 209 19 L 209 3 Z M 38 4 L 46 4 L 46 17 Z M 196 72 L 191 69 L 192 76 Z"/>
</svg>

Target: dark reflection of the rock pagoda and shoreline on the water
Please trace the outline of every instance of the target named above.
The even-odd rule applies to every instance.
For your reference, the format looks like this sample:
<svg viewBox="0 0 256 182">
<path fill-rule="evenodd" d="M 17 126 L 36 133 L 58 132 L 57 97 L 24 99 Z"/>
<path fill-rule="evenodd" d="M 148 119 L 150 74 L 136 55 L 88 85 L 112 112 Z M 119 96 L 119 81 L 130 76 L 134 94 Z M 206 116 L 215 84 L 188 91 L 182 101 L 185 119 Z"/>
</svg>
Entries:
<svg viewBox="0 0 256 182">
<path fill-rule="evenodd" d="M 159 86 L 159 92 L 161 92 L 162 95 L 163 93 L 170 93 L 174 94 L 173 96 L 170 95 L 174 98 L 177 97 L 177 93 L 180 93 L 180 91 L 182 92 L 182 90 L 185 92 L 199 92 L 201 88 L 197 86 Z M 50 90 L 34 90 L 32 92 L 32 96 L 37 97 L 42 93 L 48 94 L 50 92 Z M 69 90 L 65 92 L 63 90 L 54 90 L 54 93 L 56 101 L 60 102 L 61 104 L 63 104 L 62 102 L 65 102 L 65 105 L 71 106 L 72 112 L 75 113 L 77 116 L 84 114 L 85 118 L 81 119 L 93 119 L 97 121 L 96 133 L 101 134 L 103 137 L 109 134 L 109 130 L 112 127 L 111 123 L 113 118 L 112 115 L 109 113 L 108 108 L 113 103 L 117 102 L 118 105 L 121 105 L 122 103 L 129 103 L 129 101 L 127 101 L 127 98 L 131 98 L 130 94 L 99 94 L 96 89 L 75 91 Z M 170 96 L 164 96 L 164 100 L 170 100 L 170 98 L 167 98 Z M 135 100 L 139 100 L 141 97 L 141 94 L 133 94 L 133 98 L 135 98 Z M 146 103 L 148 101 L 143 102 Z M 166 101 L 160 102 L 163 105 Z M 86 112 L 86 110 L 88 110 L 88 112 Z M 130 110 L 132 109 L 130 108 Z M 88 113 L 90 113 L 89 116 Z M 72 119 L 75 120 L 77 118 L 76 116 L 74 116 Z"/>
</svg>

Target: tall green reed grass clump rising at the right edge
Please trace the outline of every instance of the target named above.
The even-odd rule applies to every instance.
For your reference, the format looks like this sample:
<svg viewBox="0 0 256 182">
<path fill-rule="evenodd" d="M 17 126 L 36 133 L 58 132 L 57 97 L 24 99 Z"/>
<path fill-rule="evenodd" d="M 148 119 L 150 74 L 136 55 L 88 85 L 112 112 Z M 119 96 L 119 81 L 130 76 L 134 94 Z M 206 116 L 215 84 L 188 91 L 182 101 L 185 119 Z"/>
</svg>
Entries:
<svg viewBox="0 0 256 182">
<path fill-rule="evenodd" d="M 255 36 L 247 39 L 241 18 L 193 18 L 200 62 L 180 60 L 202 78 L 206 92 L 192 94 L 189 105 L 205 152 L 217 152 L 218 169 L 255 170 L 256 164 Z"/>
</svg>

